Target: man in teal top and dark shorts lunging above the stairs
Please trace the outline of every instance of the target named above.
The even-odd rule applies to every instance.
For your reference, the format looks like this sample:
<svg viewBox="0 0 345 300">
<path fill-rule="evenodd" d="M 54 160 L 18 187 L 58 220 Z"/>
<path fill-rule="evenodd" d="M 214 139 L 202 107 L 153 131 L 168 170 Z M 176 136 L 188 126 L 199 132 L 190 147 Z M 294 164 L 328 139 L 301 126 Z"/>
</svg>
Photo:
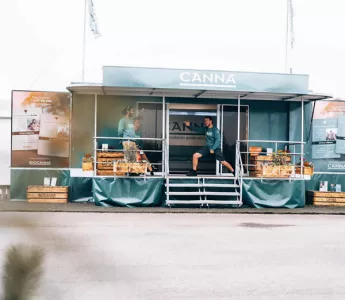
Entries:
<svg viewBox="0 0 345 300">
<path fill-rule="evenodd" d="M 192 131 L 204 133 L 206 135 L 206 145 L 201 148 L 198 152 L 193 155 L 193 169 L 187 173 L 187 176 L 197 176 L 197 168 L 199 158 L 206 155 L 215 155 L 216 160 L 219 160 L 220 163 L 226 167 L 233 176 L 234 169 L 233 167 L 225 161 L 222 150 L 220 149 L 220 132 L 217 127 L 213 126 L 212 117 L 205 117 L 204 119 L 204 128 L 196 128 L 191 126 L 189 121 L 184 122 L 184 124 Z"/>
</svg>

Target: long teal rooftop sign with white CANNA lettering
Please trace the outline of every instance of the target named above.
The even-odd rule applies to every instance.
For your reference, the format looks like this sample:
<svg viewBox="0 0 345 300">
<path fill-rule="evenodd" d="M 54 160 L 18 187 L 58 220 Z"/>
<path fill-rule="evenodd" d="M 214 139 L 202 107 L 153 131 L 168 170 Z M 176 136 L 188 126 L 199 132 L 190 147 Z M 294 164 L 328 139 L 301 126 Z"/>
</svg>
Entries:
<svg viewBox="0 0 345 300">
<path fill-rule="evenodd" d="M 308 75 L 103 67 L 107 87 L 308 94 Z"/>
</svg>

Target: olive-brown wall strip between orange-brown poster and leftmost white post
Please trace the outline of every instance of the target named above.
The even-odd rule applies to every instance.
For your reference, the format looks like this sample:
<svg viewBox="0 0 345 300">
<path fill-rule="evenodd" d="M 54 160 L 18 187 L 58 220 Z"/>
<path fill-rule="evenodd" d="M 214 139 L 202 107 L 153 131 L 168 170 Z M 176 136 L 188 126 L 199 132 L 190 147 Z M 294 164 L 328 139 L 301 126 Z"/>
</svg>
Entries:
<svg viewBox="0 0 345 300">
<path fill-rule="evenodd" d="M 73 94 L 71 167 L 81 168 L 85 153 L 93 154 L 95 96 Z"/>
</svg>

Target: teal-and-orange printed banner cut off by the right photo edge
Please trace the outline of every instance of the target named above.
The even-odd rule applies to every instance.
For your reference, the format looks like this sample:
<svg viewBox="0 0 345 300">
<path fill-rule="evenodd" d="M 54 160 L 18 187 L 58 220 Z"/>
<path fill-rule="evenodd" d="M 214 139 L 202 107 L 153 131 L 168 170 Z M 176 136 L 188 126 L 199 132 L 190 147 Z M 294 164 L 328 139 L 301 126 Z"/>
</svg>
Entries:
<svg viewBox="0 0 345 300">
<path fill-rule="evenodd" d="M 345 102 L 315 103 L 312 159 L 315 171 L 345 172 Z"/>
</svg>

